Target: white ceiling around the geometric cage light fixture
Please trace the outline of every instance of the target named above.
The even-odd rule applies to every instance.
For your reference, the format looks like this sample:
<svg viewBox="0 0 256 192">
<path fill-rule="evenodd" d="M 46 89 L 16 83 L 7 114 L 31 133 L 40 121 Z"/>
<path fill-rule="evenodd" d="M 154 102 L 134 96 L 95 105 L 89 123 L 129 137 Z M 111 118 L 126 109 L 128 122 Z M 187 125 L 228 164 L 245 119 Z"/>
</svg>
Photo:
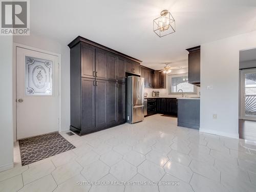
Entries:
<svg viewBox="0 0 256 192">
<path fill-rule="evenodd" d="M 160 38 L 153 19 L 163 9 L 176 33 Z M 80 35 L 156 70 L 164 62 L 186 66 L 187 48 L 256 30 L 255 0 L 33 0 L 30 10 L 32 34 L 63 45 Z"/>
</svg>

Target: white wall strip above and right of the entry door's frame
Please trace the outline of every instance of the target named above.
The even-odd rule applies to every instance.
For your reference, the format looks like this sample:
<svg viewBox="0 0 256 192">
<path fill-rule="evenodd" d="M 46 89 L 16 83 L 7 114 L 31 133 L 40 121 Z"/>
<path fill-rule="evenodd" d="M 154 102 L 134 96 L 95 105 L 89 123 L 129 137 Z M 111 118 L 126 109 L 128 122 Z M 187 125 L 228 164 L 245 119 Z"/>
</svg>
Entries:
<svg viewBox="0 0 256 192">
<path fill-rule="evenodd" d="M 61 54 L 61 129 L 70 126 L 70 49 L 58 41 L 37 35 L 14 36 L 13 42 Z"/>
</svg>

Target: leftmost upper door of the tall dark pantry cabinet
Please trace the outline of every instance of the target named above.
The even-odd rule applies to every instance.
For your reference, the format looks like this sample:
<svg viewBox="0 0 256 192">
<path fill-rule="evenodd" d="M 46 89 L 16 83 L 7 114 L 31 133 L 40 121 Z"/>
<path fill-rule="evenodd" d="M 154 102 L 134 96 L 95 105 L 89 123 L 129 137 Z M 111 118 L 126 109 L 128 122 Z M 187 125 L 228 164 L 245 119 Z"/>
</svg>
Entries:
<svg viewBox="0 0 256 192">
<path fill-rule="evenodd" d="M 95 48 L 81 44 L 81 77 L 95 76 Z"/>
</svg>

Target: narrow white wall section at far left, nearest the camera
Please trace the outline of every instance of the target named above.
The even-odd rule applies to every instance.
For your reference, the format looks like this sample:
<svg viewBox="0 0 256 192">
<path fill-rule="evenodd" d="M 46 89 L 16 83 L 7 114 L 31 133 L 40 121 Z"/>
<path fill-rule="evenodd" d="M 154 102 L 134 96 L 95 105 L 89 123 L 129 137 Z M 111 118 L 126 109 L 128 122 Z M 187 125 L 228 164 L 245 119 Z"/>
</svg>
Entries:
<svg viewBox="0 0 256 192">
<path fill-rule="evenodd" d="M 0 36 L 0 172 L 13 167 L 12 36 Z"/>
</svg>

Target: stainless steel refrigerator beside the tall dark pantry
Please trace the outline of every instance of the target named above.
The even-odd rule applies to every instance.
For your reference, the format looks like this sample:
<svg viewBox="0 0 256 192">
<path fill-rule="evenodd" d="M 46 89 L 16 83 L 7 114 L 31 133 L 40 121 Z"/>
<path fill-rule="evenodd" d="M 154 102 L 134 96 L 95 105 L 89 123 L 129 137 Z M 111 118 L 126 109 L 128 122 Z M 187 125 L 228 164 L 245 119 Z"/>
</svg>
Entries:
<svg viewBox="0 0 256 192">
<path fill-rule="evenodd" d="M 144 78 L 126 78 L 126 122 L 136 123 L 144 120 Z"/>
</svg>

